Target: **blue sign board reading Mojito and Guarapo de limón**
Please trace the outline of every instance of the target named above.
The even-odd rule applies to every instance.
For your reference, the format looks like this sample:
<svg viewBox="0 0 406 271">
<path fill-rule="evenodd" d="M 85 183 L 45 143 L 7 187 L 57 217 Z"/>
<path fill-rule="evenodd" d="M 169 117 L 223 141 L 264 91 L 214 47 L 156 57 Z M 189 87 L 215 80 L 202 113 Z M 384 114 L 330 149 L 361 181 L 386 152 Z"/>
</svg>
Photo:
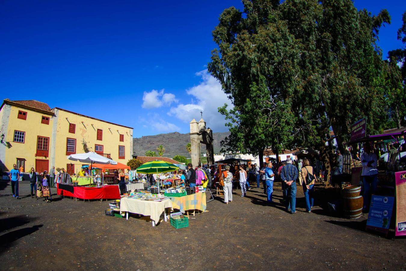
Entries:
<svg viewBox="0 0 406 271">
<path fill-rule="evenodd" d="M 394 201 L 394 197 L 372 195 L 367 228 L 388 233 Z"/>
</svg>

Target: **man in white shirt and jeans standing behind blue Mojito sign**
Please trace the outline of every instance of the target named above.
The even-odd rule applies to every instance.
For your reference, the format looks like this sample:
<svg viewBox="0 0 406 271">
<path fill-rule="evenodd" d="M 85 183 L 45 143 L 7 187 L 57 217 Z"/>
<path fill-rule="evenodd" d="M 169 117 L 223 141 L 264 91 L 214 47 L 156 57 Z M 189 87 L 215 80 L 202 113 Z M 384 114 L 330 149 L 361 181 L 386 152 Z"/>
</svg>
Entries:
<svg viewBox="0 0 406 271">
<path fill-rule="evenodd" d="M 364 206 L 363 212 L 369 212 L 369 204 L 371 202 L 371 195 L 376 193 L 376 186 L 378 185 L 378 159 L 376 155 L 371 152 L 371 145 L 369 142 L 364 143 L 364 153 L 361 155 L 362 173 L 363 178 L 363 197 Z"/>
</svg>

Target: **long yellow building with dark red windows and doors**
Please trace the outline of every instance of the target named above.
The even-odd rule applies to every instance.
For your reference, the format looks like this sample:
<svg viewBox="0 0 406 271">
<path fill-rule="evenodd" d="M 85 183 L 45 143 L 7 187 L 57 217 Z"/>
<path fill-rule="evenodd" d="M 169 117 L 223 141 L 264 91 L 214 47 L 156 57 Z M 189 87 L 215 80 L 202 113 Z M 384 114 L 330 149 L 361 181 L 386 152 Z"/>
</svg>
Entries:
<svg viewBox="0 0 406 271">
<path fill-rule="evenodd" d="M 74 153 L 97 152 L 123 164 L 132 158 L 133 128 L 51 109 L 43 102 L 6 99 L 0 121 L 0 167 L 4 171 L 17 164 L 25 172 L 31 167 L 43 172 L 54 166 L 76 173 L 82 164 L 67 159 Z"/>
</svg>

